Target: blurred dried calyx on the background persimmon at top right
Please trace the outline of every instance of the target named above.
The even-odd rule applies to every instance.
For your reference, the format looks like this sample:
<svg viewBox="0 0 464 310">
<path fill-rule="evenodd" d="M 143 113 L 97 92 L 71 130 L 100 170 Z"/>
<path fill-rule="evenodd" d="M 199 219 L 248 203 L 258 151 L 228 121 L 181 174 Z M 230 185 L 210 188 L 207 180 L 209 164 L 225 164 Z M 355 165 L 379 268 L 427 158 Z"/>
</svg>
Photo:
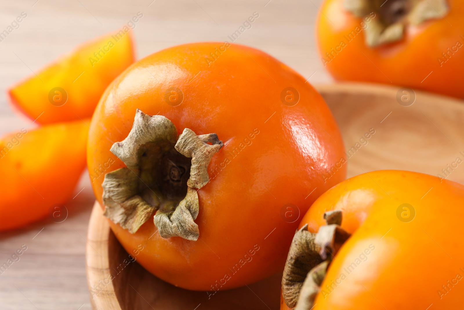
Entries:
<svg viewBox="0 0 464 310">
<path fill-rule="evenodd" d="M 401 40 L 407 24 L 418 26 L 427 20 L 444 18 L 449 11 L 446 0 L 344 0 L 343 7 L 368 21 L 367 46 Z"/>
</svg>

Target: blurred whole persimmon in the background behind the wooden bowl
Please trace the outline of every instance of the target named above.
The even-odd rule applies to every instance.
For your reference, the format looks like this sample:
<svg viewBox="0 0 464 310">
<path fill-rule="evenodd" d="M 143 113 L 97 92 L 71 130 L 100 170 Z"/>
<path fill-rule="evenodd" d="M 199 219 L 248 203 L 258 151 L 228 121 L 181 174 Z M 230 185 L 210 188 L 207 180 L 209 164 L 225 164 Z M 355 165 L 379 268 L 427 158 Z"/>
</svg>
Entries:
<svg viewBox="0 0 464 310">
<path fill-rule="evenodd" d="M 463 98 L 464 2 L 325 0 L 322 64 L 337 80 L 407 86 Z"/>
</svg>

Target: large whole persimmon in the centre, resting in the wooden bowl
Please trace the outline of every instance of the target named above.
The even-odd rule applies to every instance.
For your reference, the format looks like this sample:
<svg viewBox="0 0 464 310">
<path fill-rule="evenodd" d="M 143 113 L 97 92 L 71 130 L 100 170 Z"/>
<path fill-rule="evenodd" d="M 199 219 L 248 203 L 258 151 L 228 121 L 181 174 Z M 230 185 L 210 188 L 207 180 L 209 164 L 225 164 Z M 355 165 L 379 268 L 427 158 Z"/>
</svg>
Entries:
<svg viewBox="0 0 464 310">
<path fill-rule="evenodd" d="M 228 42 L 135 63 L 90 129 L 93 189 L 122 246 L 155 276 L 210 296 L 281 270 L 299 212 L 346 172 L 320 94 L 277 59 Z"/>
</svg>

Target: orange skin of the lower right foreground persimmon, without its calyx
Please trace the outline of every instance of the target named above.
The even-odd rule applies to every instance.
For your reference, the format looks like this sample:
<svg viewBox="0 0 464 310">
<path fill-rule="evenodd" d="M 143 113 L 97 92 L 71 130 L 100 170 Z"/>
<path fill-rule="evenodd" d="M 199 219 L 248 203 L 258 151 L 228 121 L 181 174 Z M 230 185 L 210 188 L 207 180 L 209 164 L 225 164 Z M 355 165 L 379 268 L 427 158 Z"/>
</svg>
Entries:
<svg viewBox="0 0 464 310">
<path fill-rule="evenodd" d="M 397 217 L 404 203 L 416 211 L 410 222 Z M 464 277 L 463 203 L 463 185 L 410 171 L 368 172 L 325 192 L 300 227 L 308 224 L 315 232 L 325 224 L 323 213 L 337 209 L 343 211 L 342 227 L 353 235 L 329 266 L 322 283 L 328 294 L 319 292 L 313 309 L 427 309 L 431 304 L 438 310 L 460 309 L 463 278 L 446 295 L 438 291 L 446 293 L 442 285 L 457 274 Z M 370 244 L 375 249 L 348 273 Z M 328 291 L 337 278 L 338 286 Z"/>
</svg>

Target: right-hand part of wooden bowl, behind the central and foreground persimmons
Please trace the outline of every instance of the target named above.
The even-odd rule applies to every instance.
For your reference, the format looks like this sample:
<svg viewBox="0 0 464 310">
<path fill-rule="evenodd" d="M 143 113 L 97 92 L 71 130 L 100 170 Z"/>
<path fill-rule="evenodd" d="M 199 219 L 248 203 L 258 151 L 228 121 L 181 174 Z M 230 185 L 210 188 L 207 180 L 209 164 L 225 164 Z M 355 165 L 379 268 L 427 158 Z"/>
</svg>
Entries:
<svg viewBox="0 0 464 310">
<path fill-rule="evenodd" d="M 348 177 L 398 169 L 441 174 L 464 184 L 464 163 L 455 163 L 458 157 L 464 161 L 462 100 L 415 91 L 415 102 L 402 106 L 397 101 L 400 87 L 341 83 L 316 88 L 334 113 L 347 152 L 362 145 L 360 139 L 371 128 L 375 131 L 366 145 L 349 154 Z M 448 176 L 442 169 L 448 169 Z"/>
</svg>

